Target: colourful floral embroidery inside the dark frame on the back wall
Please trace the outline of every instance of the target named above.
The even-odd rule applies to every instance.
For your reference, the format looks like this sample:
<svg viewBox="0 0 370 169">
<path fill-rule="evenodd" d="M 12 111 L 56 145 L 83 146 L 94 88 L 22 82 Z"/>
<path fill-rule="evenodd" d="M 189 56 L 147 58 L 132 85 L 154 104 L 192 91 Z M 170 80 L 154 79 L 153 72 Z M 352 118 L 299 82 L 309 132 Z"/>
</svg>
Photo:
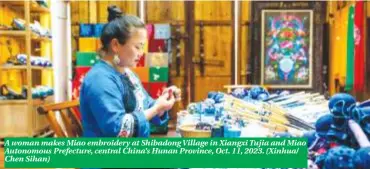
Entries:
<svg viewBox="0 0 370 169">
<path fill-rule="evenodd" d="M 261 82 L 270 88 L 311 88 L 313 11 L 261 11 Z"/>
</svg>

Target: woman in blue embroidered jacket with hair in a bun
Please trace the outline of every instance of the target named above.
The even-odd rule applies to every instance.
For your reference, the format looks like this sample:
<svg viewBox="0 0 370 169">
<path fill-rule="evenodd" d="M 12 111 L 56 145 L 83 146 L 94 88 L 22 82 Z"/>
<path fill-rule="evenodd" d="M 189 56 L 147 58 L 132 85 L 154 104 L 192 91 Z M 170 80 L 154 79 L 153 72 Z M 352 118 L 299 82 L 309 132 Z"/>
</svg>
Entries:
<svg viewBox="0 0 370 169">
<path fill-rule="evenodd" d="M 143 54 L 145 25 L 135 16 L 108 8 L 101 35 L 101 61 L 81 85 L 80 109 L 85 137 L 148 137 L 149 121 L 162 124 L 181 91 L 172 86 L 154 101 L 129 69 Z"/>
</svg>

